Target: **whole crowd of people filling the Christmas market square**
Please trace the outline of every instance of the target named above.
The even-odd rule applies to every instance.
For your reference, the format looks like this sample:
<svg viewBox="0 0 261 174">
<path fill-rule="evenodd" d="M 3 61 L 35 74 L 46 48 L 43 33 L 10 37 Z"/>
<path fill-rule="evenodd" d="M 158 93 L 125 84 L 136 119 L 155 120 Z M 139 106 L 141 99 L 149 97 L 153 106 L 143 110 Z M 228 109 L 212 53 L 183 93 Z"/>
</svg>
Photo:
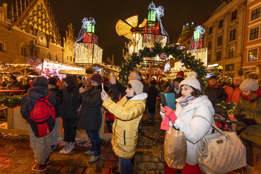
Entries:
<svg viewBox="0 0 261 174">
<path fill-rule="evenodd" d="M 208 121 L 193 116 L 202 115 L 212 121 L 215 112 L 213 106 L 222 101 L 237 103 L 234 117 L 247 125 L 247 129 L 240 134 L 246 147 L 246 169 L 254 173 L 255 159 L 257 171 L 261 173 L 261 87 L 257 83 L 258 78 L 257 73 L 249 73 L 245 80 L 236 76 L 233 83 L 222 86 L 216 76 L 210 76 L 204 91 L 196 72 L 190 72 L 184 77 L 183 71 L 178 72 L 176 78 L 165 82 L 163 79 L 143 79 L 139 71 L 132 71 L 126 86 L 122 86 L 112 73 L 108 76 L 93 74 L 90 78 L 67 76 L 61 80 L 57 76 L 48 79 L 42 76 L 16 78 L 7 74 L 0 85 L 6 89 L 19 87 L 26 90 L 27 95 L 22 98 L 21 115 L 28 123 L 35 100 L 52 92 L 50 103 L 55 108 L 56 116 L 53 130 L 39 138 L 34 135 L 29 124 L 30 147 L 36 159 L 36 164 L 32 166 L 34 171 L 46 170 L 49 154 L 56 149 L 58 117 L 63 120 L 65 142 L 60 154 L 71 153 L 75 147 L 76 129 L 80 128 L 86 131 L 91 142 L 90 149 L 84 154 L 91 156 L 89 164 L 95 163 L 101 154 L 99 129 L 103 108 L 110 114 L 106 123 L 112 132 L 112 150 L 119 157 L 119 166 L 112 171 L 132 174 L 138 135 L 142 133 L 142 118 L 145 115 L 147 119 L 155 120 L 157 99 L 163 92 L 175 93 L 176 110 L 160 106 L 163 119 L 161 128 L 165 127 L 167 131 L 166 125 L 170 125 L 183 131 L 186 136 L 187 158 L 183 174 L 201 173 L 195 146 L 204 135 L 212 133 Z M 236 128 L 240 129 L 239 126 Z M 165 163 L 165 173 L 175 173 L 176 170 Z"/>
</svg>

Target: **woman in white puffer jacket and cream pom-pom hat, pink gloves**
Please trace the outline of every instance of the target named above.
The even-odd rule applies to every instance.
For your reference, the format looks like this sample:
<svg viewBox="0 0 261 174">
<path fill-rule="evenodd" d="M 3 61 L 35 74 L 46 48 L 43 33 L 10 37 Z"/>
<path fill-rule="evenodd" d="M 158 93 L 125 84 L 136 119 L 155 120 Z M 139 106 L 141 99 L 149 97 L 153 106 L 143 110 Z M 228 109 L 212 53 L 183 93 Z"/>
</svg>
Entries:
<svg viewBox="0 0 261 174">
<path fill-rule="evenodd" d="M 187 142 L 186 164 L 182 169 L 182 174 L 201 174 L 198 166 L 198 156 L 196 153 L 197 142 L 204 135 L 212 133 L 212 127 L 208 121 L 212 121 L 214 108 L 208 96 L 203 95 L 197 73 L 191 71 L 180 85 L 181 97 L 176 99 L 176 112 L 171 108 L 160 107 L 160 115 L 163 119 L 161 129 L 168 131 L 169 126 L 174 126 L 179 131 L 183 131 Z M 204 116 L 193 117 L 195 115 Z M 177 169 L 168 167 L 165 163 L 165 174 L 176 173 Z"/>
</svg>

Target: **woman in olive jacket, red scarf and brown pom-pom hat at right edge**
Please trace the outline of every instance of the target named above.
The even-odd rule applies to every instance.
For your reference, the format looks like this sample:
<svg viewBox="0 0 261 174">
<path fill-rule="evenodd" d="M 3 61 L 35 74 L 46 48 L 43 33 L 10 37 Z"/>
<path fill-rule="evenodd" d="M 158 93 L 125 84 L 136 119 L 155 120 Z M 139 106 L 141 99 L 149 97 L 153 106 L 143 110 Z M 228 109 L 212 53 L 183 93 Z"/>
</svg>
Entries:
<svg viewBox="0 0 261 174">
<path fill-rule="evenodd" d="M 240 133 L 240 140 L 246 147 L 247 173 L 254 174 L 254 157 L 257 172 L 261 173 L 261 87 L 259 75 L 249 73 L 239 86 L 242 94 L 234 110 L 237 121 L 244 122 L 247 129 Z M 236 126 L 239 130 L 240 126 Z"/>
</svg>

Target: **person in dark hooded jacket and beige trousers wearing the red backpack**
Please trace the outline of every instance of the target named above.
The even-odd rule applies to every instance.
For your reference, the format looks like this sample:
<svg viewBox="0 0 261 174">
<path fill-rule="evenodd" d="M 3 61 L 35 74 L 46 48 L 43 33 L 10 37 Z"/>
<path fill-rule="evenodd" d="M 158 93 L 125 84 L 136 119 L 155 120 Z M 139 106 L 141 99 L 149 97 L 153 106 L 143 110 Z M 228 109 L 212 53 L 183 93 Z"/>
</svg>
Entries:
<svg viewBox="0 0 261 174">
<path fill-rule="evenodd" d="M 21 115 L 29 123 L 30 112 L 34 107 L 36 99 L 46 97 L 50 94 L 48 89 L 48 80 L 43 77 L 36 77 L 33 81 L 33 87 L 28 89 L 27 94 L 24 94 L 21 101 Z M 55 106 L 56 99 L 54 94 L 48 97 L 48 101 Z M 36 137 L 29 125 L 30 147 L 34 151 L 36 164 L 32 166 L 33 171 L 43 172 L 46 170 L 46 164 L 49 163 L 49 154 L 51 153 L 51 143 L 53 140 L 53 131 L 43 137 Z"/>
</svg>

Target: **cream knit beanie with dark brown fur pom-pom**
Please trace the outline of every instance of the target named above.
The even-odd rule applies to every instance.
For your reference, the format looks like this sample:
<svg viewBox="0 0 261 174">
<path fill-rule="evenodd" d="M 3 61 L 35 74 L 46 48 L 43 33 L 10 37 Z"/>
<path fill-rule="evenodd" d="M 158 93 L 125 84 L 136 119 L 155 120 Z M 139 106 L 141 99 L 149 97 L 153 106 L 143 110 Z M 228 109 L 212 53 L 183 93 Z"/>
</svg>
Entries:
<svg viewBox="0 0 261 174">
<path fill-rule="evenodd" d="M 256 91 L 259 89 L 259 85 L 257 83 L 258 74 L 255 72 L 249 73 L 246 75 L 246 79 L 239 85 L 239 88 L 246 89 L 250 91 Z"/>
</svg>

